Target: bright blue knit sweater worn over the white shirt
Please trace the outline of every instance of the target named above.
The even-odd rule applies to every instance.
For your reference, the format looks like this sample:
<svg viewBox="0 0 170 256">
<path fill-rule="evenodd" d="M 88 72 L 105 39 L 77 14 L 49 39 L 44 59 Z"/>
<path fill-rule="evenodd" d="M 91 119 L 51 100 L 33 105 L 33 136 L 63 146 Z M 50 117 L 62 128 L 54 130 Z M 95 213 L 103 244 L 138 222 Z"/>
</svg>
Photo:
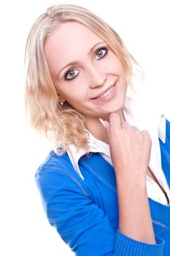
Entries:
<svg viewBox="0 0 170 256">
<path fill-rule="evenodd" d="M 160 140 L 163 172 L 170 187 L 170 122 Z M 82 157 L 75 172 L 67 154 L 51 151 L 36 172 L 36 184 L 50 224 L 78 256 L 169 256 L 170 206 L 149 198 L 157 244 L 144 244 L 120 233 L 113 167 L 98 153 Z M 133 209 L 132 209 L 133 210 Z"/>
</svg>

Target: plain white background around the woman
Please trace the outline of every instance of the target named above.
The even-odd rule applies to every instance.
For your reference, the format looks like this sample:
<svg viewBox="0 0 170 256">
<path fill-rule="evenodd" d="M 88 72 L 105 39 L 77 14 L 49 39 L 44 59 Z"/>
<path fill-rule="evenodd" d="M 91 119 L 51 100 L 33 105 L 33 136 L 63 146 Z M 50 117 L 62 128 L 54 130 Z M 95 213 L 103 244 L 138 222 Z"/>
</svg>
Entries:
<svg viewBox="0 0 170 256">
<path fill-rule="evenodd" d="M 56 2 L 80 4 L 104 18 L 143 67 L 150 105 L 170 116 L 169 0 L 1 1 L 0 255 L 4 256 L 73 255 L 42 211 L 34 173 L 50 143 L 28 128 L 23 106 L 26 37 L 35 18 Z"/>
</svg>

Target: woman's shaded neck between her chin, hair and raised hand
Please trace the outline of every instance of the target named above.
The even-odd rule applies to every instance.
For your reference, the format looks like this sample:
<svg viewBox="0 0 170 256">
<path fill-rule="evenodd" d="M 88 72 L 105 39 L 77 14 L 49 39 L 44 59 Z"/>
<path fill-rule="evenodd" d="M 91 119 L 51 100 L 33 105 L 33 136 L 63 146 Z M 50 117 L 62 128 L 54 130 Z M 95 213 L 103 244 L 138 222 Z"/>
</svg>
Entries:
<svg viewBox="0 0 170 256">
<path fill-rule="evenodd" d="M 122 110 L 117 111 L 120 116 L 120 121 L 125 120 Z M 104 121 L 109 121 L 109 115 L 103 119 Z M 88 131 L 98 140 L 102 140 L 109 144 L 109 138 L 107 135 L 107 129 L 101 124 L 99 118 L 86 117 L 86 128 Z"/>
</svg>

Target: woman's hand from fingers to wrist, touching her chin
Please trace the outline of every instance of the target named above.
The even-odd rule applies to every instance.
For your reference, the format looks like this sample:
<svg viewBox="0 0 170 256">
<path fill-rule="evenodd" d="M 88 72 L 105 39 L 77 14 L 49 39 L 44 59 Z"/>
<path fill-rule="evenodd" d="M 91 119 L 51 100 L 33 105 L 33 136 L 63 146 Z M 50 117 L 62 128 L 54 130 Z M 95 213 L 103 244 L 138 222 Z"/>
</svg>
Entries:
<svg viewBox="0 0 170 256">
<path fill-rule="evenodd" d="M 117 113 L 110 114 L 107 130 L 117 179 L 145 181 L 152 145 L 149 133 L 120 121 Z"/>
</svg>

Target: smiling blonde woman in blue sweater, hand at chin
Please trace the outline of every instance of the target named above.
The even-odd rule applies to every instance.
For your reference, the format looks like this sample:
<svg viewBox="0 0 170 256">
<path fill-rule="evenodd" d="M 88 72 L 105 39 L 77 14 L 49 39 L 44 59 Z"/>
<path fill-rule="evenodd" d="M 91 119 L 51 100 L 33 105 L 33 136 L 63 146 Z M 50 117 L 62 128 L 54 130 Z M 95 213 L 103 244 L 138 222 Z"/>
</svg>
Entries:
<svg viewBox="0 0 170 256">
<path fill-rule="evenodd" d="M 55 141 L 36 172 L 50 224 L 75 255 L 169 255 L 170 123 L 126 96 L 136 61 L 119 35 L 82 7 L 53 6 L 26 64 L 31 123 Z"/>
</svg>

